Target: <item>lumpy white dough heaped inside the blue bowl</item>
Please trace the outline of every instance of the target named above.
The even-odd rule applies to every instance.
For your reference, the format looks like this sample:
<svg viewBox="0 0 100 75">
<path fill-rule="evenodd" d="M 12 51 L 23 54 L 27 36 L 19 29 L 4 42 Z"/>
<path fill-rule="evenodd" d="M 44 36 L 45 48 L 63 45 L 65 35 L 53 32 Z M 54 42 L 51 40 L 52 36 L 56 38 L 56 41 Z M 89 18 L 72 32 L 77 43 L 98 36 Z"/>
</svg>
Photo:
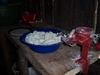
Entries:
<svg viewBox="0 0 100 75">
<path fill-rule="evenodd" d="M 34 31 L 26 35 L 25 41 L 35 45 L 50 45 L 61 42 L 61 36 L 53 32 Z"/>
</svg>

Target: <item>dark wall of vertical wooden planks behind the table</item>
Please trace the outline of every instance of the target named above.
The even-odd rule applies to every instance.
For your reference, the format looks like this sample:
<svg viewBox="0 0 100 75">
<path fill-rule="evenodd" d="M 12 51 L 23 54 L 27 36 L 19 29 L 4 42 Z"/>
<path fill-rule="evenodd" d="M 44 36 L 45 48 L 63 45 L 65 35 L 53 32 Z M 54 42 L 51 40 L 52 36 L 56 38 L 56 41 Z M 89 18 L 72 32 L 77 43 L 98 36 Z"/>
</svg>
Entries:
<svg viewBox="0 0 100 75">
<path fill-rule="evenodd" d="M 78 26 L 88 26 L 94 28 L 95 1 L 99 0 L 9 0 L 9 1 L 21 2 L 22 3 L 21 13 L 25 11 L 36 13 L 37 21 L 43 21 L 62 29 L 71 30 Z M 99 29 L 97 26 L 97 31 L 98 30 Z"/>
</svg>

